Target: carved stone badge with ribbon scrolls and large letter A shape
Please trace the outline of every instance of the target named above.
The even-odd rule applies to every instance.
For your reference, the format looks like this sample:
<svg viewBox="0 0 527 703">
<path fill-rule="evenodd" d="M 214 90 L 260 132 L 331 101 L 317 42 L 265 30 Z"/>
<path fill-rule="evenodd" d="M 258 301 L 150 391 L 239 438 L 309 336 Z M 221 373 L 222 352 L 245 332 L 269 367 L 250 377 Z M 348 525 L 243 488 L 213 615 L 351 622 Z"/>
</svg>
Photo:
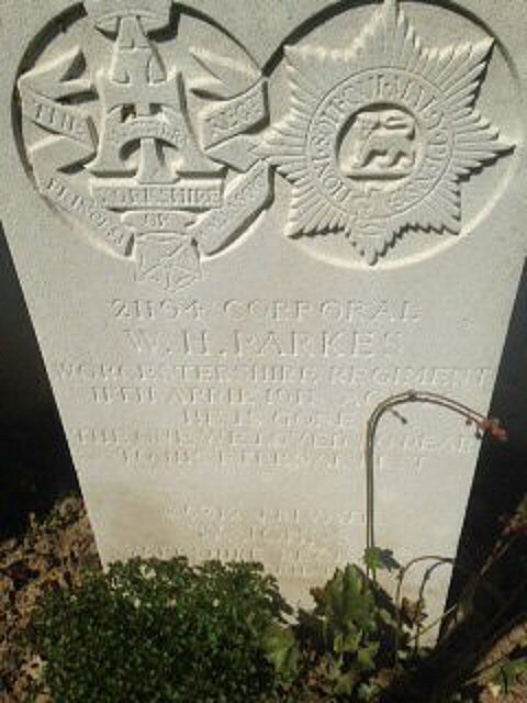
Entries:
<svg viewBox="0 0 527 703">
<path fill-rule="evenodd" d="M 269 167 L 251 153 L 266 82 L 220 32 L 234 56 L 179 46 L 171 0 L 83 4 L 72 45 L 60 52 L 59 33 L 19 80 L 29 159 L 42 194 L 134 261 L 138 280 L 175 292 L 269 203 Z"/>
</svg>

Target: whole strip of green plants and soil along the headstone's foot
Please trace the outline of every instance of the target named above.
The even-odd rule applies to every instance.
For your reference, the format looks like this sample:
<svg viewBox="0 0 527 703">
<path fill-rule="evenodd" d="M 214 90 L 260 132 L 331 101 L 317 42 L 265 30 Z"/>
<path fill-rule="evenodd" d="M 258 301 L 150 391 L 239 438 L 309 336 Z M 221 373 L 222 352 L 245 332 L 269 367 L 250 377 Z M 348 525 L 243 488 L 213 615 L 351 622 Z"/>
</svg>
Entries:
<svg viewBox="0 0 527 703">
<path fill-rule="evenodd" d="M 135 559 L 103 573 L 69 499 L 0 550 L 0 700 L 519 703 L 526 544 L 527 501 L 427 648 L 426 603 L 377 582 L 405 574 L 389 550 L 337 570 L 293 613 L 258 565 Z"/>
</svg>

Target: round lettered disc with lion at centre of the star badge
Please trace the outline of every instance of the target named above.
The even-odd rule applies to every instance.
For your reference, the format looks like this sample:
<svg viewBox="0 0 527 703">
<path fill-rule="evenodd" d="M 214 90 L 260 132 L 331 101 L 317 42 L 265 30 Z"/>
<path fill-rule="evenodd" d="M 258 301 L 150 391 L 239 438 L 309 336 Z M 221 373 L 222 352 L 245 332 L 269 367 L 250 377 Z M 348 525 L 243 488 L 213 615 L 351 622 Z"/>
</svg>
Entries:
<svg viewBox="0 0 527 703">
<path fill-rule="evenodd" d="M 356 203 L 362 216 L 386 220 L 435 190 L 451 161 L 453 134 L 440 92 L 419 76 L 363 71 L 337 86 L 313 115 L 310 172 L 344 215 Z"/>
</svg>

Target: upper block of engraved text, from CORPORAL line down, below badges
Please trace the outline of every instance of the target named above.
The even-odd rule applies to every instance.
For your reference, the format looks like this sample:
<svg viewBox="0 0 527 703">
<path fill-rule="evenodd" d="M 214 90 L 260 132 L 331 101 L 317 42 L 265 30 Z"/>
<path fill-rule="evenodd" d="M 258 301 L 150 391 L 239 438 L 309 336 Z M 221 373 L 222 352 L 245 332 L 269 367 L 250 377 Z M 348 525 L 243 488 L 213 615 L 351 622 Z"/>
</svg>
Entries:
<svg viewBox="0 0 527 703">
<path fill-rule="evenodd" d="M 64 360 L 53 370 L 101 412 L 170 419 L 78 429 L 81 453 L 103 450 L 123 471 L 360 476 L 368 408 L 397 389 L 463 395 L 494 378 L 489 367 L 410 364 L 427 314 L 404 299 L 119 299 L 108 311 L 127 361 Z M 434 456 L 474 447 L 472 435 L 397 429 L 380 439 L 379 471 L 426 475 Z"/>
</svg>

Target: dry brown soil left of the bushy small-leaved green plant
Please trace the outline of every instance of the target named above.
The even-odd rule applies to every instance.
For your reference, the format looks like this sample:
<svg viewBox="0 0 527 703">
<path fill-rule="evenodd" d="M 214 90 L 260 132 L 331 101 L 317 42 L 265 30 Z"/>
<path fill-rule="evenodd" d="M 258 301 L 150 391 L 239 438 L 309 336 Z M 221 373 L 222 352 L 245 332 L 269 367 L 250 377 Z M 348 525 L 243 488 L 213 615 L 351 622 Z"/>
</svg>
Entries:
<svg viewBox="0 0 527 703">
<path fill-rule="evenodd" d="M 37 600 L 47 589 L 78 585 L 93 567 L 100 561 L 79 498 L 60 501 L 42 523 L 32 520 L 23 537 L 0 543 L 0 703 L 27 703 L 42 674 L 42 661 L 22 644 Z M 504 640 L 492 658 L 508 648 Z M 49 701 L 41 695 L 35 703 Z M 527 688 L 500 700 L 485 693 L 482 703 L 527 703 Z"/>
</svg>

